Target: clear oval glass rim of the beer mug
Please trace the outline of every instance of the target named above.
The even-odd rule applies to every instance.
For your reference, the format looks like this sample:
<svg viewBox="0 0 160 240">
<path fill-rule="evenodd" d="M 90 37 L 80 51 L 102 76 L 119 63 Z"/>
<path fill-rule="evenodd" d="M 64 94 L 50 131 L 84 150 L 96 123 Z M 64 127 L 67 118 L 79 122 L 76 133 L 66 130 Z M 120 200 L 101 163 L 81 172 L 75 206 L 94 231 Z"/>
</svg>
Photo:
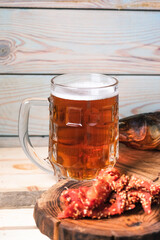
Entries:
<svg viewBox="0 0 160 240">
<path fill-rule="evenodd" d="M 76 77 L 76 75 L 77 76 L 82 76 L 82 75 L 99 75 L 99 76 L 102 76 L 102 77 L 106 77 L 106 79 L 107 78 L 110 78 L 110 79 L 113 79 L 115 82 L 114 83 L 112 83 L 112 84 L 107 84 L 107 85 L 105 85 L 104 84 L 104 86 L 99 86 L 99 87 L 74 87 L 74 86 L 68 86 L 68 85 L 66 85 L 66 84 L 62 84 L 62 83 L 58 83 L 58 82 L 54 82 L 55 80 L 57 80 L 58 78 L 61 78 L 61 77 L 63 77 L 63 76 L 75 76 Z M 109 88 L 109 87 L 114 87 L 114 86 L 116 86 L 116 85 L 118 85 L 118 83 L 119 83 L 119 81 L 118 81 L 118 79 L 117 78 L 115 78 L 115 77 L 113 77 L 113 76 L 110 76 L 110 75 L 106 75 L 106 74 L 101 74 L 101 73 L 64 73 L 64 74 L 60 74 L 60 75 L 58 75 L 58 76 L 55 76 L 55 77 L 53 77 L 52 79 L 51 79 L 51 85 L 56 85 L 56 86 L 59 86 L 59 87 L 65 87 L 65 88 L 72 88 L 72 89 L 102 89 L 102 88 Z"/>
</svg>

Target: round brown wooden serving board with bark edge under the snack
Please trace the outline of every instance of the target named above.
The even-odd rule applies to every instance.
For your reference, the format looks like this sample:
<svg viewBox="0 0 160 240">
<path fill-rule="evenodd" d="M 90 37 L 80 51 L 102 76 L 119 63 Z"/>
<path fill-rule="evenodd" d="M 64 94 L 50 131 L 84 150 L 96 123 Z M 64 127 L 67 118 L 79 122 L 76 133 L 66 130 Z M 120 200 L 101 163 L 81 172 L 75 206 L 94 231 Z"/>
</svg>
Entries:
<svg viewBox="0 0 160 240">
<path fill-rule="evenodd" d="M 120 158 L 116 164 L 121 172 L 136 174 L 144 179 L 160 182 L 160 152 L 140 151 L 120 145 Z M 89 184 L 89 183 L 88 183 Z M 34 218 L 40 231 L 53 240 L 118 240 L 160 239 L 160 206 L 152 206 L 147 215 L 141 207 L 121 216 L 107 219 L 63 219 L 57 214 L 62 210 L 59 197 L 65 187 L 77 188 L 80 183 L 60 181 L 46 191 L 37 201 Z"/>
</svg>

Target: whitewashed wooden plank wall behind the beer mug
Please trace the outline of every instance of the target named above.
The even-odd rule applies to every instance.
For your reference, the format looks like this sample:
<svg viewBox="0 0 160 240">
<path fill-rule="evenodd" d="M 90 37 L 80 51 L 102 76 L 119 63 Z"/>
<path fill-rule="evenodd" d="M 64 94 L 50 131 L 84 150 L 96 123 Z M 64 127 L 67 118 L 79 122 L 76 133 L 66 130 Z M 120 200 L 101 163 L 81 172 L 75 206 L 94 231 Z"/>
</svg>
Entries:
<svg viewBox="0 0 160 240">
<path fill-rule="evenodd" d="M 160 110 L 159 9 L 160 1 L 0 0 L 0 146 L 19 145 L 8 137 L 18 136 L 20 103 L 47 98 L 57 74 L 116 76 L 120 117 Z M 47 108 L 31 110 L 29 131 L 48 134 Z"/>
</svg>

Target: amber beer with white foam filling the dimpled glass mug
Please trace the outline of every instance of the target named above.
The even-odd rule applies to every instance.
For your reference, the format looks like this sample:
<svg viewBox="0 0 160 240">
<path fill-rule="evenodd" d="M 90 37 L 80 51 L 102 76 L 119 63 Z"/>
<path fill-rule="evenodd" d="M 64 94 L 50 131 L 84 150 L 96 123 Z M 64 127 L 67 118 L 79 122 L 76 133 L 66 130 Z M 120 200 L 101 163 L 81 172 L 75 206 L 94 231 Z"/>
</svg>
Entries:
<svg viewBox="0 0 160 240">
<path fill-rule="evenodd" d="M 50 96 L 49 159 L 63 176 L 93 179 L 118 157 L 118 93 L 64 90 Z"/>
</svg>

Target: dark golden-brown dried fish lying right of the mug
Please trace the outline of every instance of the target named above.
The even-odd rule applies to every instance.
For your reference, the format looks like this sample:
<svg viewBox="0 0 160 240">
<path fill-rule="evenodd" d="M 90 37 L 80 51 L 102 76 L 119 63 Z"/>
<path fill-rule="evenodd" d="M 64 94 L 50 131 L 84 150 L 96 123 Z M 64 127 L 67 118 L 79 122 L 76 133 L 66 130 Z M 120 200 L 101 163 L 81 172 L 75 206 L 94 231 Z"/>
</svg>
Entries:
<svg viewBox="0 0 160 240">
<path fill-rule="evenodd" d="M 160 112 L 120 119 L 119 141 L 136 149 L 160 150 Z"/>
</svg>

